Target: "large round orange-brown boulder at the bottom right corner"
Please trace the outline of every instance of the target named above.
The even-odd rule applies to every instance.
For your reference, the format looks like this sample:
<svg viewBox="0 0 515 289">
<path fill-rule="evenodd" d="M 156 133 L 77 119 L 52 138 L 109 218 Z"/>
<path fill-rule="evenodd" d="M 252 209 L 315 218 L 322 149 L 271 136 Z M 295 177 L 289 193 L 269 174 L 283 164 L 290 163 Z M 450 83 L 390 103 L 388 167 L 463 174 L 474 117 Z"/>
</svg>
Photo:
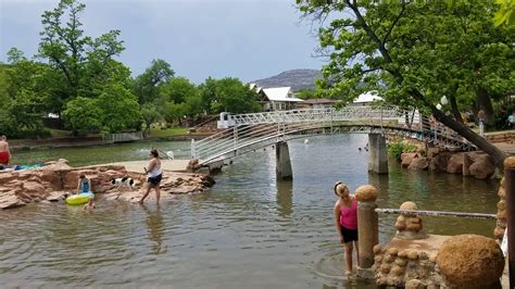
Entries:
<svg viewBox="0 0 515 289">
<path fill-rule="evenodd" d="M 495 240 L 459 235 L 443 242 L 436 260 L 448 287 L 490 288 L 504 269 L 504 256 Z"/>
</svg>

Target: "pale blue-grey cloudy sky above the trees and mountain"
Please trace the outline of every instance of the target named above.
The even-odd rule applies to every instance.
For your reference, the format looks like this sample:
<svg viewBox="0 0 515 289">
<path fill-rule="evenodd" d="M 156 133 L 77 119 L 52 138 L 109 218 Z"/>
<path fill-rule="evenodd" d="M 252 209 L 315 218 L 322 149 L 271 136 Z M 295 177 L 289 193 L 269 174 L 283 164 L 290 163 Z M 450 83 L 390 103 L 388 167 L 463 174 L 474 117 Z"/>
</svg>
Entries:
<svg viewBox="0 0 515 289">
<path fill-rule="evenodd" d="M 294 0 L 81 0 L 86 35 L 120 29 L 120 60 L 133 76 L 163 59 L 196 84 L 209 76 L 251 81 L 293 68 L 319 70 L 317 39 Z M 37 53 L 41 14 L 58 0 L 0 0 L 0 61 L 16 47 Z"/>
</svg>

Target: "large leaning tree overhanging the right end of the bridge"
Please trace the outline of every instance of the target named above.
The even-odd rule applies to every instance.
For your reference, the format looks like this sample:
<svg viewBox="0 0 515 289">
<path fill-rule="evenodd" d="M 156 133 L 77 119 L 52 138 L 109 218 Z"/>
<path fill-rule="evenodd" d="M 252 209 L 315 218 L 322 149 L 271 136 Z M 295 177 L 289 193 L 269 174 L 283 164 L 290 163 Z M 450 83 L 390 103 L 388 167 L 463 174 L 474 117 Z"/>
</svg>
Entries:
<svg viewBox="0 0 515 289">
<path fill-rule="evenodd" d="M 360 92 L 378 90 L 393 104 L 427 110 L 502 166 L 504 153 L 436 108 L 444 93 L 456 106 L 474 100 L 488 105 L 493 92 L 488 84 L 511 77 L 506 67 L 513 63 L 513 39 L 491 23 L 491 1 L 297 3 L 318 18 L 331 12 L 343 15 L 319 29 L 329 62 L 318 85 L 327 93 L 351 101 Z M 503 51 L 502 56 L 488 56 L 492 50 Z"/>
</svg>

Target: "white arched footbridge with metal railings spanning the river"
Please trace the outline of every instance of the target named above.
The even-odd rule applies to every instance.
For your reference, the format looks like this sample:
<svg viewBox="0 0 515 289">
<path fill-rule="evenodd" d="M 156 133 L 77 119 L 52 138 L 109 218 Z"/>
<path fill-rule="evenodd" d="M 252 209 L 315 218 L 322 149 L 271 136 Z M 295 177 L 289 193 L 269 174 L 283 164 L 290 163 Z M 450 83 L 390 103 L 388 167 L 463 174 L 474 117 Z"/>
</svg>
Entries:
<svg viewBox="0 0 515 289">
<path fill-rule="evenodd" d="M 201 164 L 224 161 L 280 141 L 319 134 L 378 134 L 417 138 L 432 146 L 474 150 L 467 140 L 417 110 L 347 106 L 250 114 L 221 114 L 223 131 L 191 142 L 191 156 Z"/>
</svg>

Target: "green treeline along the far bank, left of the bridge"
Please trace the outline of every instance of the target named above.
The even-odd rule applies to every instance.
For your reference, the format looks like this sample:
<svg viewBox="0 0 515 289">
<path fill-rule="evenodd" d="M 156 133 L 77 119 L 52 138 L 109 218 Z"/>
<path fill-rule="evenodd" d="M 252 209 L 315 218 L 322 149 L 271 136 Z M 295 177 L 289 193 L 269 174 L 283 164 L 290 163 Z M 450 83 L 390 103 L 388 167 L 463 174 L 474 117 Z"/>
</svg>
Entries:
<svg viewBox="0 0 515 289">
<path fill-rule="evenodd" d="M 222 111 L 260 110 L 258 96 L 237 78 L 208 78 L 197 86 L 154 60 L 137 77 L 118 56 L 120 30 L 93 38 L 84 34 L 85 4 L 61 0 L 41 15 L 38 53 L 26 58 L 12 48 L 0 64 L 0 133 L 48 137 L 42 118 L 56 115 L 73 135 L 146 133 L 150 125 L 177 123 Z"/>
</svg>

